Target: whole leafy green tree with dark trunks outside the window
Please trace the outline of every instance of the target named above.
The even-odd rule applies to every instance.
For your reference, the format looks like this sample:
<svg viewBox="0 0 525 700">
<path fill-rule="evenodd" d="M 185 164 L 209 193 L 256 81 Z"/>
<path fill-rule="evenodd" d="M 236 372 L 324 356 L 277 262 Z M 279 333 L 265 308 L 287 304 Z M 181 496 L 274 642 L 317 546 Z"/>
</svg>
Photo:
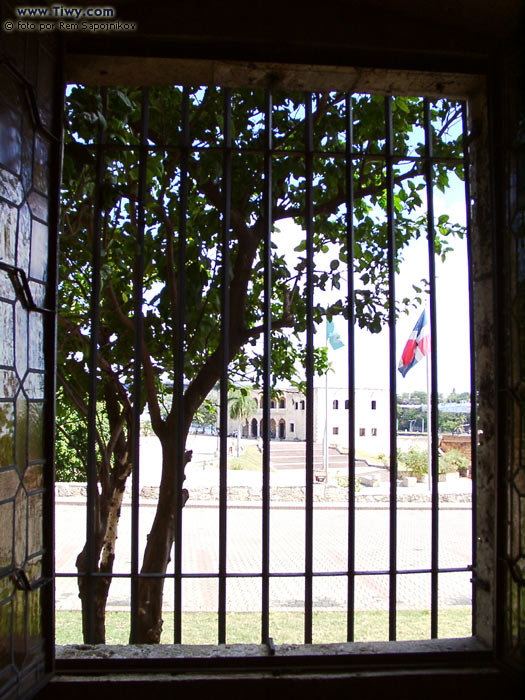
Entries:
<svg viewBox="0 0 525 700">
<path fill-rule="evenodd" d="M 142 562 L 138 598 L 141 616 L 138 641 L 158 642 L 162 629 L 162 577 L 150 573 L 166 571 L 175 537 L 175 502 L 191 454 L 184 450 L 196 412 L 220 376 L 222 339 L 221 290 L 223 258 L 221 246 L 223 206 L 223 154 L 216 148 L 223 131 L 223 92 L 217 88 L 191 90 L 190 137 L 192 150 L 181 149 L 183 91 L 173 87 L 150 92 L 144 213 L 144 268 L 137 257 L 138 180 L 140 171 L 141 95 L 134 89 L 108 91 L 107 109 L 101 95 L 92 89 L 74 87 L 68 95 L 68 127 L 64 159 L 61 236 L 61 283 L 58 374 L 68 410 L 83 420 L 89 412 L 89 336 L 91 250 L 96 242 L 93 210 L 102 202 L 100 342 L 96 349 L 97 406 L 104 407 L 106 434 L 97 424 L 97 494 L 94 559 L 101 573 L 111 574 L 124 486 L 132 470 L 134 444 L 133 385 L 135 340 L 141 342 L 141 402 L 147 404 L 151 426 L 162 445 L 162 477 L 156 516 Z M 304 95 L 274 95 L 272 158 L 274 237 L 272 242 L 272 379 L 300 384 L 299 366 L 306 354 L 307 296 L 305 291 L 305 242 L 295 256 L 284 252 L 279 224 L 292 219 L 305 222 Z M 264 214 L 261 182 L 264 157 L 257 149 L 264 143 L 261 91 L 239 90 L 231 98 L 232 136 L 237 148 L 231 152 L 231 274 L 227 281 L 230 300 L 228 330 L 230 376 L 235 381 L 257 384 L 263 363 L 259 341 L 264 331 L 263 249 Z M 314 148 L 344 149 L 345 96 L 314 95 Z M 423 104 L 415 98 L 393 101 L 394 149 L 414 149 L 413 132 L 422 123 Z M 353 272 L 356 280 L 355 309 L 361 327 L 379 331 L 388 314 L 388 231 L 385 168 L 381 153 L 385 127 L 383 98 L 357 95 L 353 99 L 355 247 Z M 432 106 L 435 152 L 461 155 L 460 137 L 453 131 L 459 109 L 447 100 Z M 103 186 L 96 188 L 96 152 L 92 144 L 100 128 L 106 131 L 102 156 Z M 452 131 L 451 131 L 452 130 Z M 127 144 L 137 146 L 129 148 Z M 439 148 L 437 148 L 439 147 Z M 423 145 L 416 145 L 422 154 Z M 362 157 L 361 157 L 362 156 Z M 348 265 L 345 187 L 342 161 L 337 157 L 314 160 L 315 221 L 313 245 L 316 254 L 314 284 L 331 299 L 314 307 L 314 322 L 326 315 L 346 315 L 348 300 L 341 289 Z M 181 237 L 181 168 L 187 172 L 187 216 L 185 250 L 186 299 L 180 298 L 179 268 Z M 461 176 L 461 167 L 436 163 L 438 187 L 446 189 L 450 168 Z M 404 247 L 424 235 L 426 219 L 421 211 L 422 162 L 413 159 L 394 166 L 394 206 L 397 223 L 397 260 Z M 440 217 L 436 222 L 436 250 L 444 255 L 449 237 L 460 227 Z M 329 260 L 327 261 L 327 257 Z M 139 278 L 142 278 L 139 280 Z M 141 289 L 133 284 L 139 280 Z M 417 303 L 402 300 L 400 308 Z M 138 295 L 138 296 L 137 296 Z M 334 295 L 337 295 L 334 297 Z M 135 317 L 134 300 L 138 301 Z M 179 338 L 179 318 L 184 309 L 184 338 Z M 140 321 L 140 324 L 139 324 Z M 184 366 L 178 365 L 183 346 Z M 315 351 L 316 369 L 327 369 L 326 352 Z M 176 378 L 184 376 L 183 425 L 179 425 Z M 171 388 L 170 388 L 171 387 Z M 166 399 L 166 401 L 164 401 Z M 181 450 L 181 445 L 182 450 Z M 182 493 L 182 503 L 187 493 Z M 77 568 L 86 571 L 87 549 L 79 555 Z M 105 601 L 111 577 L 97 577 L 95 591 L 95 641 L 104 641 Z M 86 614 L 85 578 L 79 577 L 80 597 Z"/>
</svg>

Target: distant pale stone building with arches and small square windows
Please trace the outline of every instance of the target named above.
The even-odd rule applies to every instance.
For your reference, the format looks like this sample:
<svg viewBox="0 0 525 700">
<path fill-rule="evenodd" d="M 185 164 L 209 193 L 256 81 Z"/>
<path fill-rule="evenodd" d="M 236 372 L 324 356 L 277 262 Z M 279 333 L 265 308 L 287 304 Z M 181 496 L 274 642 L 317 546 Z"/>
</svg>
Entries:
<svg viewBox="0 0 525 700">
<path fill-rule="evenodd" d="M 324 440 L 326 406 L 328 406 L 328 444 L 348 447 L 348 422 L 351 401 L 347 388 L 314 388 L 314 442 Z M 262 391 L 253 390 L 257 408 L 244 419 L 242 436 L 262 437 Z M 356 446 L 375 453 L 389 450 L 389 394 L 384 389 L 356 389 Z M 228 433 L 238 430 L 238 420 L 229 418 Z M 272 440 L 306 440 L 306 397 L 299 390 L 283 389 L 270 407 L 270 438 Z"/>
</svg>

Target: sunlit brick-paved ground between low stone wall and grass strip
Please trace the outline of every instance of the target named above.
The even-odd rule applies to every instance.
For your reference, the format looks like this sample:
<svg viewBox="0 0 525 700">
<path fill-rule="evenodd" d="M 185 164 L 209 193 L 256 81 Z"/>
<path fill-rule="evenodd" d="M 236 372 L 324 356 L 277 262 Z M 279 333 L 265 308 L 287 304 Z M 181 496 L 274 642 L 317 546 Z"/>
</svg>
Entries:
<svg viewBox="0 0 525 700">
<path fill-rule="evenodd" d="M 255 505 L 255 504 L 254 504 Z M 154 504 L 140 508 L 140 548 L 155 514 Z M 131 508 L 124 505 L 117 542 L 115 573 L 130 570 Z M 219 510 L 210 505 L 191 505 L 184 509 L 183 572 L 202 574 L 218 572 Z M 84 543 L 85 509 L 78 503 L 57 504 L 56 508 L 57 572 L 75 572 L 75 558 Z M 257 507 L 233 507 L 228 511 L 227 570 L 253 577 L 228 579 L 227 604 L 232 612 L 260 610 L 261 579 L 261 510 Z M 398 510 L 399 570 L 430 567 L 431 512 L 429 508 Z M 271 514 L 271 572 L 304 571 L 305 514 L 302 507 L 274 507 Z M 347 569 L 348 514 L 344 507 L 329 506 L 314 510 L 314 572 L 339 572 Z M 355 566 L 358 572 L 385 572 L 389 562 L 388 509 L 358 508 L 356 511 Z M 471 511 L 469 507 L 443 508 L 439 517 L 439 566 L 465 567 L 471 562 Z M 470 573 L 439 575 L 440 606 L 471 603 Z M 80 608 L 75 578 L 57 579 L 57 608 Z M 129 580 L 115 579 L 111 586 L 108 609 L 129 608 Z M 368 573 L 356 577 L 355 609 L 388 609 L 388 575 Z M 345 610 L 347 578 L 316 576 L 313 584 L 314 610 Z M 217 609 L 217 579 L 193 578 L 183 581 L 183 609 L 214 611 Z M 173 585 L 165 586 L 164 605 L 173 608 Z M 270 582 L 273 610 L 302 610 L 304 577 L 276 576 Z M 398 608 L 430 608 L 430 575 L 398 576 Z"/>
</svg>

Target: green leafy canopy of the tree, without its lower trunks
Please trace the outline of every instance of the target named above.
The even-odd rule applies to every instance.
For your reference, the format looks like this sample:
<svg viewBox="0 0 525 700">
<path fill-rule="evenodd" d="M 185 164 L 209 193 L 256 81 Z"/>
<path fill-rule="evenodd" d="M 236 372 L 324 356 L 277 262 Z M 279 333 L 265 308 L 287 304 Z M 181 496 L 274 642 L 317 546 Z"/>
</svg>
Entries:
<svg viewBox="0 0 525 700">
<path fill-rule="evenodd" d="M 80 333 L 68 333 L 62 347 L 67 373 L 85 383 L 85 355 L 88 336 L 88 289 L 90 284 L 90 237 L 95 197 L 95 153 L 87 148 L 98 137 L 101 127 L 107 129 L 111 144 L 104 155 L 102 201 L 102 301 L 103 342 L 101 355 L 123 386 L 131 386 L 133 363 L 133 270 L 136 266 L 136 220 L 139 155 L 132 149 L 120 148 L 126 143 L 138 144 L 141 118 L 140 91 L 134 88 L 108 90 L 107 108 L 96 90 L 73 87 L 68 96 L 68 128 L 64 158 L 62 266 L 62 313 Z M 223 93 L 217 88 L 196 88 L 190 91 L 190 131 L 192 144 L 188 159 L 188 211 L 186 216 L 186 296 L 185 306 L 186 361 L 184 376 L 191 382 L 210 360 L 220 342 L 220 299 L 222 279 L 222 154 L 214 146 L 221 139 Z M 293 219 L 305 223 L 304 161 L 287 153 L 304 149 L 304 95 L 274 95 L 274 147 L 282 155 L 274 157 L 273 196 L 275 224 L 272 248 L 272 371 L 274 381 L 300 382 L 299 367 L 304 363 L 306 329 L 306 264 L 305 241 L 296 248 L 299 256 L 287 259 L 278 247 L 284 234 L 279 223 Z M 180 163 L 178 144 L 181 138 L 182 89 L 158 87 L 150 91 L 149 143 L 155 150 L 148 153 L 145 210 L 145 268 L 143 323 L 147 348 L 153 360 L 157 391 L 175 377 L 173 362 L 176 339 L 176 309 L 173 283 L 179 271 Z M 264 96 L 260 90 L 236 90 L 232 95 L 232 137 L 236 147 L 260 146 L 264 142 Z M 342 151 L 345 148 L 345 96 L 336 92 L 314 96 L 316 148 Z M 105 113 L 106 116 L 103 116 Z M 354 151 L 359 155 L 381 153 L 384 146 L 383 98 L 356 95 L 353 98 Z M 415 142 L 415 130 L 422 124 L 423 102 L 417 98 L 396 97 L 393 100 L 396 153 L 421 155 L 423 144 Z M 434 149 L 446 156 L 461 155 L 461 139 L 454 132 L 459 108 L 448 100 L 432 105 Z M 175 147 L 175 148 L 174 148 Z M 315 159 L 315 225 L 314 284 L 318 290 L 339 291 L 339 299 L 330 308 L 316 306 L 314 320 L 346 316 L 345 294 L 347 265 L 345 194 L 343 170 L 339 159 Z M 395 209 L 397 264 L 404 247 L 426 233 L 425 216 L 421 213 L 422 165 L 419 161 L 395 166 Z M 462 177 L 461 167 L 435 165 L 439 187 L 446 188 L 450 174 Z M 253 151 L 232 154 L 232 231 L 230 257 L 232 293 L 236 294 L 241 317 L 238 323 L 246 329 L 246 346 L 255 348 L 263 319 L 263 160 Z M 355 168 L 355 260 L 356 316 L 361 327 L 379 331 L 387 315 L 387 227 L 385 170 L 382 161 L 367 158 Z M 436 248 L 447 250 L 451 236 L 462 230 L 441 217 L 436 227 Z M 249 238 L 251 237 L 251 239 Z M 323 256 L 328 256 L 325 260 Z M 331 258 L 331 259 L 330 259 Z M 248 268 L 243 269 L 245 260 Z M 425 288 L 422 281 L 419 290 Z M 421 292 L 408 299 L 401 308 L 418 302 Z M 326 356 L 315 351 L 316 371 L 326 371 Z M 255 351 L 236 351 L 232 372 L 250 376 L 257 383 L 262 362 Z M 160 380 L 160 377 L 163 380 Z M 145 400 L 145 392 L 142 392 Z M 204 398 L 204 397 L 203 397 Z"/>
</svg>

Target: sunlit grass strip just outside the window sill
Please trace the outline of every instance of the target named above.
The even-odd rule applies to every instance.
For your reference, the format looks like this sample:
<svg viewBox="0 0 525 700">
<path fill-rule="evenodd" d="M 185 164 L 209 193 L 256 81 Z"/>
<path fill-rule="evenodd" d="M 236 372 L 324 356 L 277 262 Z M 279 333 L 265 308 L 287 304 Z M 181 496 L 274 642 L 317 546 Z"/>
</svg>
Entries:
<svg viewBox="0 0 525 700">
<path fill-rule="evenodd" d="M 216 644 L 217 613 L 182 613 L 184 644 Z M 258 613 L 228 613 L 226 618 L 229 644 L 260 643 L 261 616 Z M 472 634 L 470 606 L 443 608 L 439 613 L 439 637 L 469 637 Z M 270 613 L 270 636 L 276 644 L 302 644 L 304 614 L 301 612 Z M 107 644 L 127 644 L 129 613 L 108 612 L 106 616 Z M 397 638 L 430 639 L 429 610 L 398 610 Z M 385 610 L 355 613 L 355 641 L 379 642 L 388 639 L 388 612 Z M 344 612 L 314 612 L 313 641 L 316 644 L 346 641 Z M 163 644 L 173 642 L 173 614 L 166 613 L 162 631 Z M 81 644 L 81 613 L 72 610 L 56 612 L 56 643 Z"/>
</svg>

